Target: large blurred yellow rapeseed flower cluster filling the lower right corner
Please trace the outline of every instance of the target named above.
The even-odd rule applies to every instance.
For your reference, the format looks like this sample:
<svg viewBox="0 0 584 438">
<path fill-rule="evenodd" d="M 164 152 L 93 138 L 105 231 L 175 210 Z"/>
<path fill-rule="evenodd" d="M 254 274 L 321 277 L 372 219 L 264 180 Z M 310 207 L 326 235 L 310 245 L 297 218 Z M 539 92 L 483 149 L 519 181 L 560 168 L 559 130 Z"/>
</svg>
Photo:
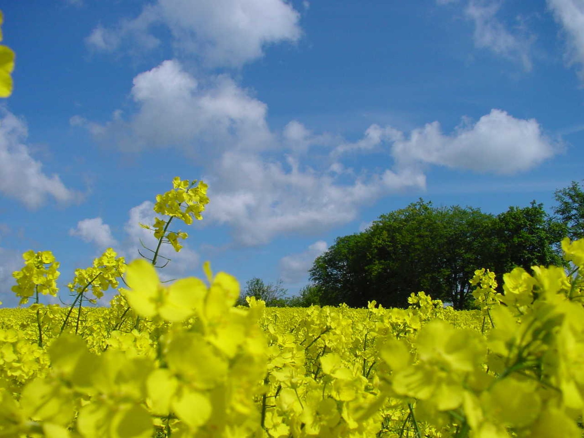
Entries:
<svg viewBox="0 0 584 438">
<path fill-rule="evenodd" d="M 584 240 L 566 239 L 562 247 L 566 260 L 582 263 L 581 272 Z M 491 272 L 475 272 L 474 296 L 492 325 L 486 339 L 435 320 L 415 339 L 381 346 L 382 392 L 410 407 L 415 402 L 418 421 L 447 435 L 580 437 L 581 279 L 555 266 L 532 269 L 533 275 L 516 268 L 503 276 L 505 295 L 495 292 Z"/>
</svg>

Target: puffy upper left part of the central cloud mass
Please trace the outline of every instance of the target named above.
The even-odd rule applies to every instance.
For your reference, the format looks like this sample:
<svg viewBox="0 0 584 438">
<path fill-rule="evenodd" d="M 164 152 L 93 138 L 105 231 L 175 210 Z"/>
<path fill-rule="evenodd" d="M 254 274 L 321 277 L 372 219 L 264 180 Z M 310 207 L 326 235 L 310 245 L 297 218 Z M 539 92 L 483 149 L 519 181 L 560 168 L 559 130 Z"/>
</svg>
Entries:
<svg viewBox="0 0 584 438">
<path fill-rule="evenodd" d="M 272 141 L 266 104 L 227 76 L 217 76 L 202 87 L 178 61 L 168 60 L 135 76 L 131 96 L 138 110 L 130 120 L 114 111 L 103 125 L 79 115 L 70 122 L 126 152 L 171 145 L 197 157 L 218 154 L 222 148 L 260 150 Z"/>
</svg>

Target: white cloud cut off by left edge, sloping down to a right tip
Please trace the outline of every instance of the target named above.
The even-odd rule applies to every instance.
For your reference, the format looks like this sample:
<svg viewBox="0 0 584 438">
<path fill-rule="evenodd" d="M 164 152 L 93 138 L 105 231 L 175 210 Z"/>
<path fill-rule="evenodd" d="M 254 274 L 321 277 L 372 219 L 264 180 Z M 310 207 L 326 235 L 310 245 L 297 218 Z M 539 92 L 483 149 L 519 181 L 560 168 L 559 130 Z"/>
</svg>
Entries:
<svg viewBox="0 0 584 438">
<path fill-rule="evenodd" d="M 0 120 L 0 192 L 18 199 L 29 209 L 37 209 L 48 196 L 58 202 L 80 202 L 81 193 L 65 187 L 58 175 L 47 177 L 43 164 L 30 156 L 23 142 L 28 135 L 25 122 L 2 110 Z"/>
</svg>

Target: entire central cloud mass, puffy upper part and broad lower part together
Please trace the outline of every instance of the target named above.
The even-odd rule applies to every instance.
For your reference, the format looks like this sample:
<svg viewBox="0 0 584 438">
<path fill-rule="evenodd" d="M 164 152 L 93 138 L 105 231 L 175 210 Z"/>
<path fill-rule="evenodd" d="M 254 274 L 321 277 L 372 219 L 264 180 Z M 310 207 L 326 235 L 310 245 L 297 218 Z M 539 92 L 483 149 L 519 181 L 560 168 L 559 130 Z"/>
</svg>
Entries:
<svg viewBox="0 0 584 438">
<path fill-rule="evenodd" d="M 80 116 L 70 122 L 85 125 L 96 138 L 117 143 L 120 149 L 180 146 L 187 156 L 209 163 L 211 177 L 203 179 L 210 184 L 213 202 L 206 222 L 231 225 L 238 244 L 264 244 L 281 233 L 328 230 L 354 220 L 362 205 L 405 188 L 425 187 L 423 174 L 412 169 L 385 170 L 357 177 L 349 185 L 336 184 L 336 177 L 353 177 L 354 172 L 331 163 L 326 154 L 322 158 L 329 171 L 301 170 L 296 155 L 312 145 L 332 143 L 332 136 L 314 135 L 293 121 L 279 142 L 267 127 L 266 104 L 226 76 L 203 87 L 177 61 L 165 61 L 137 75 L 131 95 L 138 111 L 128 121 L 116 111 L 105 125 Z M 285 162 L 269 162 L 260 155 L 282 147 L 292 152 Z"/>
</svg>

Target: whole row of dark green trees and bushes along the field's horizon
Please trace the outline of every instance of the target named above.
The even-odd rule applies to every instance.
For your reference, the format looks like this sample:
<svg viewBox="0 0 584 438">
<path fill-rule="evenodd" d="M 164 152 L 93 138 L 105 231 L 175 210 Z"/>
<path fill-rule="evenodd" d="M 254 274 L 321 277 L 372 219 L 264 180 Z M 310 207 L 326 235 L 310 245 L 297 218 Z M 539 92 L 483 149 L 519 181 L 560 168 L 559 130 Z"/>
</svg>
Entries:
<svg viewBox="0 0 584 438">
<path fill-rule="evenodd" d="M 502 285 L 502 275 L 515 267 L 531 272 L 534 265 L 565 266 L 561 240 L 584 237 L 584 191 L 572 181 L 554 198 L 551 215 L 536 201 L 492 215 L 469 206 L 436 207 L 420 198 L 379 216 L 363 232 L 335 239 L 314 261 L 311 284 L 300 295 L 286 297 L 281 283 L 264 285 L 254 278 L 238 304 L 255 296 L 280 307 L 366 307 L 371 300 L 407 307 L 410 294 L 423 290 L 455 309 L 470 309 L 475 269 L 490 269 Z"/>
</svg>

